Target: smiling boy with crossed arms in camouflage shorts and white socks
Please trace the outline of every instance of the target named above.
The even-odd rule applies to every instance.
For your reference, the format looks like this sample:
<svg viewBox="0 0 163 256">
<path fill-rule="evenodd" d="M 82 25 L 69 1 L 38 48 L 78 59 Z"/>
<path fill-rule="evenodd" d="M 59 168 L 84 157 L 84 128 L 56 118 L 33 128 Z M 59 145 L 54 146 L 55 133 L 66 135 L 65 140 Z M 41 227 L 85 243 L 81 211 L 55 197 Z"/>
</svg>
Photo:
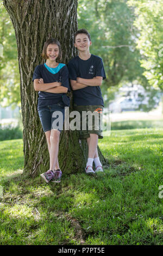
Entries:
<svg viewBox="0 0 163 256">
<path fill-rule="evenodd" d="M 74 46 L 78 49 L 79 55 L 68 63 L 74 108 L 80 113 L 82 111 L 101 113 L 104 106 L 100 86 L 103 79 L 106 78 L 105 71 L 102 59 L 90 53 L 89 47 L 91 44 L 90 34 L 86 29 L 77 31 L 74 35 Z M 81 130 L 79 138 L 86 138 L 89 148 L 85 168 L 86 174 L 103 172 L 97 151 L 98 138 L 103 138 L 101 127 L 99 126 L 97 130 L 94 124 L 93 129 Z M 93 161 L 96 166 L 95 171 L 92 168 Z"/>
</svg>

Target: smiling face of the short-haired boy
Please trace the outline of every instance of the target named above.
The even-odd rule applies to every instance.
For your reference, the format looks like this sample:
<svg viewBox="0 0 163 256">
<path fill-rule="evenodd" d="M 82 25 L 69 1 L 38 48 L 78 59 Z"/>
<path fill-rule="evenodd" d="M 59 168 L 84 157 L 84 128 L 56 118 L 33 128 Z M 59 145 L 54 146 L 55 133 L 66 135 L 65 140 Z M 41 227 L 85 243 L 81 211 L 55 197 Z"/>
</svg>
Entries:
<svg viewBox="0 0 163 256">
<path fill-rule="evenodd" d="M 86 34 L 78 34 L 76 36 L 76 41 L 74 42 L 74 46 L 79 51 L 86 51 L 89 49 L 92 42 L 89 40 L 88 36 Z"/>
</svg>

